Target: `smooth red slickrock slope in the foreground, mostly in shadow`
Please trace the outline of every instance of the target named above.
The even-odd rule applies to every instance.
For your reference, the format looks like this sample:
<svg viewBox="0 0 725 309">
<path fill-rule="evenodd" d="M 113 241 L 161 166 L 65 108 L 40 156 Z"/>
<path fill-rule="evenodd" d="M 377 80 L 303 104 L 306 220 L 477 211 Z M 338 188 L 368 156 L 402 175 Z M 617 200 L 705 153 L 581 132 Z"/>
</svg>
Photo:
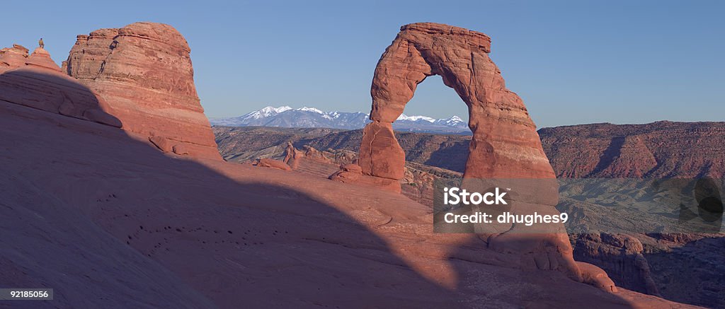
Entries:
<svg viewBox="0 0 725 309">
<path fill-rule="evenodd" d="M 4 102 L 0 140 L 0 266 L 14 286 L 55 289 L 35 308 L 679 306 L 434 234 L 428 208 L 392 192 L 167 156 L 145 135 Z"/>
</svg>

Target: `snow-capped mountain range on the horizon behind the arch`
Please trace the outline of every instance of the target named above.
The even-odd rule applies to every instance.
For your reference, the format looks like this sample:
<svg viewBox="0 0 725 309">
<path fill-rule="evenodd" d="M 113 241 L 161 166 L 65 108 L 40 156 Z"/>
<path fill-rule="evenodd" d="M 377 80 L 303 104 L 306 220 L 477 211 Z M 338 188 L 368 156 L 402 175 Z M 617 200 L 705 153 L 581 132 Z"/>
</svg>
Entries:
<svg viewBox="0 0 725 309">
<path fill-rule="evenodd" d="M 292 109 L 289 106 L 267 106 L 259 111 L 239 117 L 211 119 L 213 125 L 228 127 L 329 127 L 334 129 L 361 129 L 370 122 L 368 114 L 362 112 L 320 111 L 312 107 Z M 434 119 L 426 116 L 400 115 L 393 128 L 410 132 L 465 133 L 468 130 L 460 117 Z"/>
</svg>

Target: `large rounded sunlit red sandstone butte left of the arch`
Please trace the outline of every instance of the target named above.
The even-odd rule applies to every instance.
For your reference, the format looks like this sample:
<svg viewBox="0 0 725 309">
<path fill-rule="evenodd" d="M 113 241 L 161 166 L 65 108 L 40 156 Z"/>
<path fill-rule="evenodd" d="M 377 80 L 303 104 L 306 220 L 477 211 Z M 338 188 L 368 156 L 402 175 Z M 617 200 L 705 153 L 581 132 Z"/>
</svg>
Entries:
<svg viewBox="0 0 725 309">
<path fill-rule="evenodd" d="M 63 69 L 103 97 L 124 130 L 165 152 L 220 159 L 190 52 L 170 25 L 136 22 L 78 35 Z"/>
</svg>

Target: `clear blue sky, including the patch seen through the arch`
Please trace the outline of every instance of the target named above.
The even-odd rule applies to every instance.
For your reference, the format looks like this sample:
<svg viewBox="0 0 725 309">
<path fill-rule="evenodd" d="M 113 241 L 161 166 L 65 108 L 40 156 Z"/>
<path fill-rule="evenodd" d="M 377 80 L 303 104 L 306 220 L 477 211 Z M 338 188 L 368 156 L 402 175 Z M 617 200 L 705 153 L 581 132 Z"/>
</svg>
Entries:
<svg viewBox="0 0 725 309">
<path fill-rule="evenodd" d="M 725 1 L 5 1 L 0 46 L 136 21 L 186 36 L 209 117 L 263 106 L 370 110 L 373 70 L 400 25 L 442 22 L 492 37 L 508 88 L 539 127 L 725 120 Z M 467 118 L 430 77 L 406 114 Z"/>
</svg>

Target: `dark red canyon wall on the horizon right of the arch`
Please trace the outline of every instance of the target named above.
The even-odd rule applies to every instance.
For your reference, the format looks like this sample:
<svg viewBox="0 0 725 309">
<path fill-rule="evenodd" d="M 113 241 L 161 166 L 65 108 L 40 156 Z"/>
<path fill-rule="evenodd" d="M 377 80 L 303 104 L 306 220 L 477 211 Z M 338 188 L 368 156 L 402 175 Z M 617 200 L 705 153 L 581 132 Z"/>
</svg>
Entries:
<svg viewBox="0 0 725 309">
<path fill-rule="evenodd" d="M 725 122 L 581 124 L 539 135 L 558 177 L 725 177 Z"/>
</svg>

